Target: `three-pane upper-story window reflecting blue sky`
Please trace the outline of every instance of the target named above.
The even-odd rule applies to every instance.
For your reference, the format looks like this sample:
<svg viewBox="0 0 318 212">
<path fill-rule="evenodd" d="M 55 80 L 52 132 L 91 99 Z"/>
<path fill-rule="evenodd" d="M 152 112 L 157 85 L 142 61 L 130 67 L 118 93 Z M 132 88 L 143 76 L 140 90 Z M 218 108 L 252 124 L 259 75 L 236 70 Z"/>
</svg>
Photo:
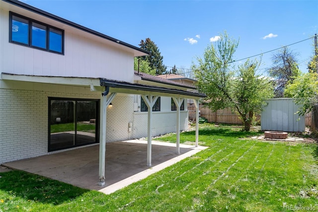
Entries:
<svg viewBox="0 0 318 212">
<path fill-rule="evenodd" d="M 10 12 L 10 42 L 64 54 L 64 31 Z"/>
</svg>

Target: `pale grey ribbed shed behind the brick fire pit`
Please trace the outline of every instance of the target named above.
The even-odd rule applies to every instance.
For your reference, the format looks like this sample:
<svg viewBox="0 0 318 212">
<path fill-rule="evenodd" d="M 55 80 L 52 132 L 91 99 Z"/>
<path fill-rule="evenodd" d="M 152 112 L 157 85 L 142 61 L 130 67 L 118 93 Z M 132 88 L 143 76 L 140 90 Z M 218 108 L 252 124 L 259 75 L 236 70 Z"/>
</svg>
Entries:
<svg viewBox="0 0 318 212">
<path fill-rule="evenodd" d="M 305 117 L 295 114 L 300 108 L 292 98 L 277 98 L 268 103 L 261 113 L 261 130 L 304 132 Z"/>
</svg>

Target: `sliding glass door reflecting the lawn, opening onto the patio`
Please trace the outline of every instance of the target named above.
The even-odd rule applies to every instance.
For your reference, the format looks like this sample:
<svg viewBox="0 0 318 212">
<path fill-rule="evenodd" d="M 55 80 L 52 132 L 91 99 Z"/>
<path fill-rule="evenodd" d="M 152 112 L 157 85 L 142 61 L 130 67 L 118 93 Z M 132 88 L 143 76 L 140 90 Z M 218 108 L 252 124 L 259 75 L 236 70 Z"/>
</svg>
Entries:
<svg viewBox="0 0 318 212">
<path fill-rule="evenodd" d="M 98 142 L 95 99 L 49 97 L 49 151 Z"/>
</svg>

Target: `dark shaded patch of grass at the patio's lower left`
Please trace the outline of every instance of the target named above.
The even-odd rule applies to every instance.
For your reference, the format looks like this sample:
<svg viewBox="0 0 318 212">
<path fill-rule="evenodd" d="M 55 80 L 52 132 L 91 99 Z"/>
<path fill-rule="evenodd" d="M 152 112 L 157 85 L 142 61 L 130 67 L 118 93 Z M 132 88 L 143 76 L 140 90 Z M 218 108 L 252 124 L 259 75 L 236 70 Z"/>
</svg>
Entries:
<svg viewBox="0 0 318 212">
<path fill-rule="evenodd" d="M 25 201 L 52 205 L 69 202 L 89 192 L 67 183 L 18 170 L 1 173 L 0 191 Z"/>
</svg>

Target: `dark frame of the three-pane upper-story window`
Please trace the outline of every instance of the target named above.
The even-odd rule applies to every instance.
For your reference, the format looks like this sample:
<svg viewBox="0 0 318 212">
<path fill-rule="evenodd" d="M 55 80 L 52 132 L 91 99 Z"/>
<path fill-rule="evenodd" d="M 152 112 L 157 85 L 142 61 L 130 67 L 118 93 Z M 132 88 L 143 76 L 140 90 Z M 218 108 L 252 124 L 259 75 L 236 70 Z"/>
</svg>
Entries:
<svg viewBox="0 0 318 212">
<path fill-rule="evenodd" d="M 28 43 L 27 44 L 12 40 L 12 16 L 16 16 L 16 17 L 19 17 L 19 18 L 22 18 L 22 19 L 26 19 L 26 20 L 29 21 L 29 25 L 28 25 Z M 33 46 L 32 45 L 32 23 L 40 24 L 40 25 L 43 25 L 43 26 L 46 27 L 46 48 L 41 48 L 41 47 L 37 47 L 37 46 Z M 54 29 L 54 30 L 57 30 L 57 31 L 61 32 L 61 36 L 62 36 L 62 39 L 61 39 L 61 52 L 54 51 L 54 50 L 50 49 L 50 29 Z M 56 53 L 56 54 L 59 54 L 59 55 L 64 55 L 64 39 L 65 39 L 65 36 L 64 36 L 64 30 L 63 29 L 59 29 L 57 27 L 54 27 L 54 26 L 51 26 L 49 24 L 34 20 L 32 18 L 25 17 L 23 15 L 19 15 L 17 13 L 11 12 L 11 11 L 9 12 L 9 42 L 10 43 L 14 43 L 14 44 L 18 44 L 18 45 L 34 48 L 34 49 L 39 49 L 39 50 L 46 51 L 46 52 L 52 52 L 52 53 Z"/>
</svg>

